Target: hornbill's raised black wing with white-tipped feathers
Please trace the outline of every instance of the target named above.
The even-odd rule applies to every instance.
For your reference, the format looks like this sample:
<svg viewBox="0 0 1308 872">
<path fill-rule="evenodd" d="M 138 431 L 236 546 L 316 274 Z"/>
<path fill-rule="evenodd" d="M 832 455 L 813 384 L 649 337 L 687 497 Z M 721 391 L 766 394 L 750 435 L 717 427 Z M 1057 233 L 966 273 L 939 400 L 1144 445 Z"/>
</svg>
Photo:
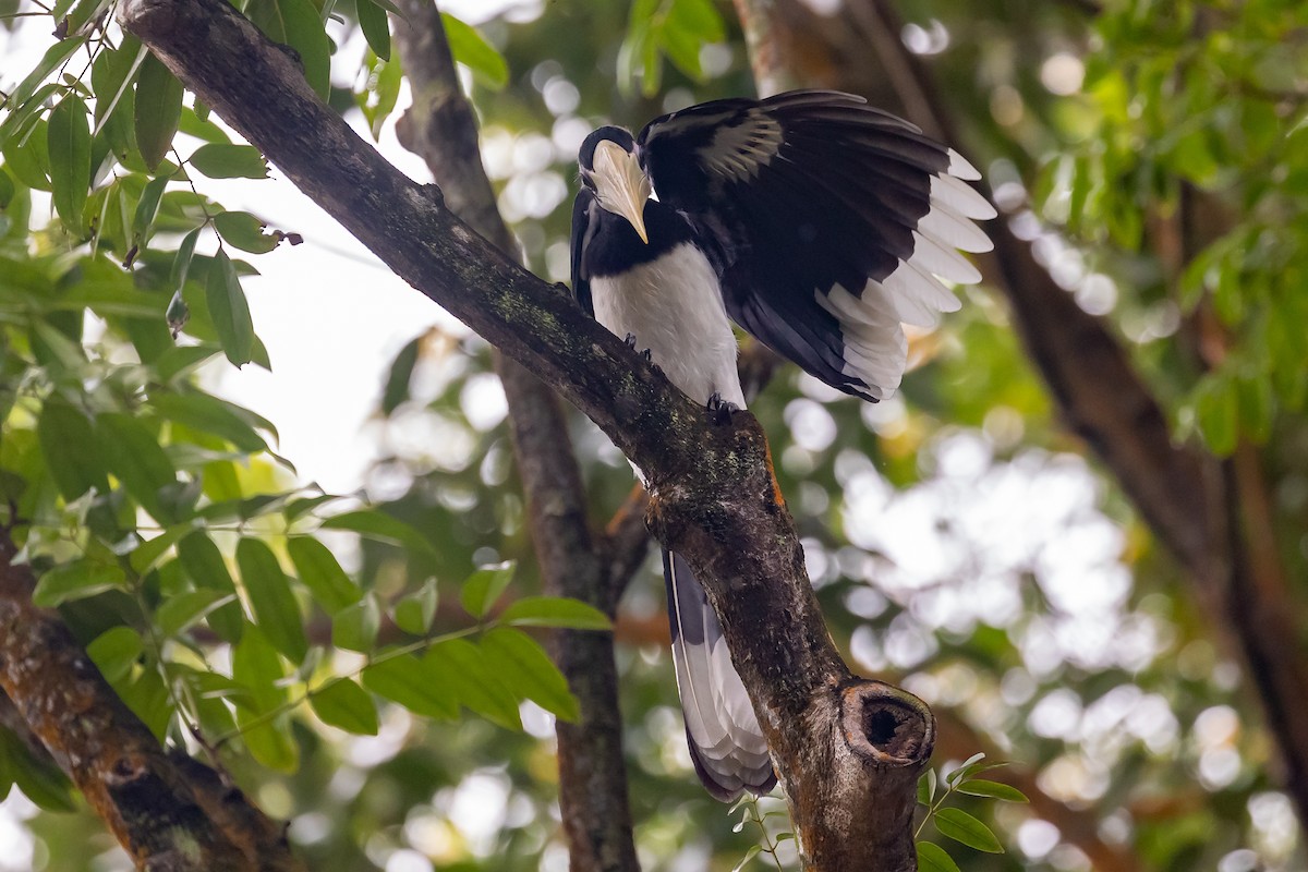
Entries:
<svg viewBox="0 0 1308 872">
<path fill-rule="evenodd" d="M 838 92 L 701 103 L 650 122 L 637 153 L 684 212 L 744 329 L 848 394 L 904 373 L 901 324 L 934 326 L 981 276 L 981 178 L 908 122 Z"/>
</svg>

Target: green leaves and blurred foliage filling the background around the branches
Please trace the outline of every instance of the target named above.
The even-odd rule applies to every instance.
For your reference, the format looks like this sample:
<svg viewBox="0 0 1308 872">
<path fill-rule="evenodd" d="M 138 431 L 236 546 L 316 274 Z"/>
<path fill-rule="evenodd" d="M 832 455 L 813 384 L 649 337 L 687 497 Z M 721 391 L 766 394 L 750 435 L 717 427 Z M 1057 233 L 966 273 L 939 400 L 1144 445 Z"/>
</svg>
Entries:
<svg viewBox="0 0 1308 872">
<path fill-rule="evenodd" d="M 238 5 L 374 137 L 394 123 L 390 3 Z M 590 129 L 752 90 L 727 7 L 528 0 L 476 29 L 446 18 L 538 273 L 566 278 Z M 1253 446 L 1281 562 L 1308 578 L 1304 5 L 900 8 L 1014 229 L 1108 319 L 1179 439 Z M 106 10 L 0 0 L 5 27 L 48 46 L 31 75 L 0 73 L 0 511 L 38 596 L 161 736 L 290 820 L 311 868 L 565 868 L 544 710 L 574 702 L 532 637 L 479 628 L 508 570 L 462 583 L 517 561 L 508 596 L 531 609 L 539 590 L 487 346 L 432 332 L 400 352 L 378 386 L 390 451 L 364 498 L 297 482 L 273 425 L 203 387 L 222 357 L 268 366 L 242 280 L 297 238 L 204 193 L 263 176 L 262 157 Z M 1058 426 L 1002 302 L 965 294 L 913 339 L 896 399 L 861 404 L 782 369 L 751 404 L 837 642 L 937 707 L 942 771 L 985 750 L 1048 799 L 968 807 L 1007 854 L 955 846 L 954 862 L 1084 869 L 1092 839 L 1141 869 L 1303 868 L 1224 634 Z M 599 524 L 630 471 L 589 422 L 570 426 Z M 647 566 L 621 611 L 655 631 L 617 648 L 642 863 L 730 869 L 759 831 L 732 831 L 691 771 L 654 642 L 661 597 Z M 483 716 L 456 719 L 460 706 Z M 0 741 L 0 773 L 29 800 L 71 804 L 48 766 Z M 123 864 L 85 813 L 5 808 L 29 818 L 38 868 Z M 776 800 L 759 808 L 774 820 Z"/>
</svg>

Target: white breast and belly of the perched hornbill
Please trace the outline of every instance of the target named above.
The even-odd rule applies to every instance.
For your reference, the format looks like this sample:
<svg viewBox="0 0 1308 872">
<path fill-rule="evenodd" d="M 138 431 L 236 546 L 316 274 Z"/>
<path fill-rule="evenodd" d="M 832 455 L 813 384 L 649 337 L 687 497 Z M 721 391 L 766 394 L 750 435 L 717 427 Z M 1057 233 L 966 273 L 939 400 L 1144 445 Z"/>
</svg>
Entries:
<svg viewBox="0 0 1308 872">
<path fill-rule="evenodd" d="M 683 243 L 617 276 L 590 282 L 595 319 L 636 348 L 692 400 L 719 394 L 744 408 L 736 340 L 722 305 L 718 276 L 698 248 Z"/>
</svg>

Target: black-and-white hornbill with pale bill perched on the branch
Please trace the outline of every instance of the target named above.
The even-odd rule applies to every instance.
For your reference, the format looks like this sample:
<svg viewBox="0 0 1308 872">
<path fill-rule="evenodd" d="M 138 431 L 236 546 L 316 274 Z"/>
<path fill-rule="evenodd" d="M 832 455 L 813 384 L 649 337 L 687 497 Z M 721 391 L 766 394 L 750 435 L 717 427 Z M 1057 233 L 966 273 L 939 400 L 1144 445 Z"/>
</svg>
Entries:
<svg viewBox="0 0 1308 872">
<path fill-rule="evenodd" d="M 901 324 L 931 327 L 991 244 L 980 174 L 916 127 L 837 92 L 722 99 L 579 154 L 572 278 L 581 306 L 649 348 L 701 403 L 744 405 L 735 320 L 827 384 L 878 401 L 904 374 Z M 768 744 L 689 567 L 663 554 L 672 658 L 696 771 L 731 800 L 772 788 Z"/>
</svg>

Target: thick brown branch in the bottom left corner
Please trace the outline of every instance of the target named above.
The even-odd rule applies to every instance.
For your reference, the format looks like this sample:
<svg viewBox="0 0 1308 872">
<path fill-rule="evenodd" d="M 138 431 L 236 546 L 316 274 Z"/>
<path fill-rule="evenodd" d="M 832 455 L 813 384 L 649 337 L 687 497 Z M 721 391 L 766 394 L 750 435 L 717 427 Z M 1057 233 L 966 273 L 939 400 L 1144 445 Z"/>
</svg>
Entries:
<svg viewBox="0 0 1308 872">
<path fill-rule="evenodd" d="M 56 612 L 31 604 L 35 579 L 0 532 L 0 686 L 143 869 L 303 869 L 285 826 L 208 766 L 169 756 L 118 698 Z"/>
</svg>

